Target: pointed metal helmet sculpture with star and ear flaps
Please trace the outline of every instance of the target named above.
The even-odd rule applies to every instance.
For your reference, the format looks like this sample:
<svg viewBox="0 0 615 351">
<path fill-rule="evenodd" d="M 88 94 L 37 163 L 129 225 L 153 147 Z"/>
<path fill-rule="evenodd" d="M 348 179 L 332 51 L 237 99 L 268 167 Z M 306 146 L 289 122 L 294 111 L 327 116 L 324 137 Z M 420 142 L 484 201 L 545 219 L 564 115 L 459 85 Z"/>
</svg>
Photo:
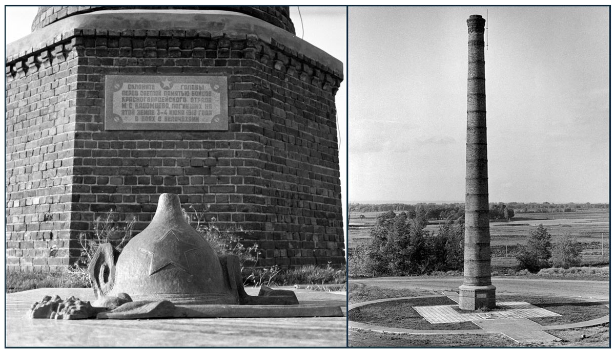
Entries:
<svg viewBox="0 0 615 351">
<path fill-rule="evenodd" d="M 181 212 L 180 199 L 162 194 L 151 223 L 119 254 L 103 244 L 89 266 L 97 298 L 128 294 L 133 300 L 175 304 L 298 304 L 292 291 L 245 293 L 239 258 L 218 256 Z"/>
</svg>

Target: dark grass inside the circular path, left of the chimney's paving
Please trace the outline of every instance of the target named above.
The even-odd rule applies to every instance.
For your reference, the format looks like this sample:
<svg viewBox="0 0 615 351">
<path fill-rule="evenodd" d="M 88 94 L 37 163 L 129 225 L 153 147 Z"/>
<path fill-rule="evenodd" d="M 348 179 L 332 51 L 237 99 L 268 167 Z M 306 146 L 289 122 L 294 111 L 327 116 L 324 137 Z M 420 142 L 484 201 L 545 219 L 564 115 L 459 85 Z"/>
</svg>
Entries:
<svg viewBox="0 0 615 351">
<path fill-rule="evenodd" d="M 353 322 L 419 330 L 470 330 L 480 329 L 472 322 L 432 324 L 421 317 L 413 306 L 454 305 L 446 296 L 386 301 L 369 304 L 348 311 L 348 319 Z"/>
</svg>

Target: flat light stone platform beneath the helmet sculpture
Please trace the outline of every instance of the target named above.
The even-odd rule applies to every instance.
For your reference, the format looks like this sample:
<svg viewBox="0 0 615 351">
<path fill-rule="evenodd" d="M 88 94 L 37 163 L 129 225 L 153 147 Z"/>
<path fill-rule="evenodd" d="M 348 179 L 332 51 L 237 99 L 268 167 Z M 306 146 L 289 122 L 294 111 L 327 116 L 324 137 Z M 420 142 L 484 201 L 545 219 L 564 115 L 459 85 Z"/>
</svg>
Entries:
<svg viewBox="0 0 615 351">
<path fill-rule="evenodd" d="M 346 293 L 295 291 L 301 304 L 340 306 Z M 247 288 L 257 295 L 258 289 Z M 21 347 L 345 347 L 346 317 L 169 318 L 151 320 L 30 319 L 26 312 L 45 295 L 93 300 L 91 289 L 45 288 L 6 295 L 6 346 Z"/>
</svg>

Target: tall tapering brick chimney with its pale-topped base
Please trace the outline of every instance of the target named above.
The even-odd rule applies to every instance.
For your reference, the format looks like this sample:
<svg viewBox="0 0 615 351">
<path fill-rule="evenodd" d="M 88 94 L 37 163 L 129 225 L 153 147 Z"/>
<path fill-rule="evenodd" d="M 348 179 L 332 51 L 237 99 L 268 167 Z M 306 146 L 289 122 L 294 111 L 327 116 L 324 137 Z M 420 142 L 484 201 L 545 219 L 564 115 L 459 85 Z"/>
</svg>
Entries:
<svg viewBox="0 0 615 351">
<path fill-rule="evenodd" d="M 468 26 L 466 234 L 461 309 L 495 307 L 491 285 L 487 125 L 485 102 L 485 20 L 471 15 Z"/>
</svg>

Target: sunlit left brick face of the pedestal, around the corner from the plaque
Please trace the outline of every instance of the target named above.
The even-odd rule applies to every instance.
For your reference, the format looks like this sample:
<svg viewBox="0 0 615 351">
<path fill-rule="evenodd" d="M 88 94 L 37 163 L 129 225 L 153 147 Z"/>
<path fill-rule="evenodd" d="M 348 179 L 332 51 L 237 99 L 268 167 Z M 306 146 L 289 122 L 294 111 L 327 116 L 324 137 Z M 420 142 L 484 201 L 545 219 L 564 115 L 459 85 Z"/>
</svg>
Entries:
<svg viewBox="0 0 615 351">
<path fill-rule="evenodd" d="M 6 249 L 9 269 L 68 264 L 76 58 L 52 45 L 6 66 Z"/>
</svg>

